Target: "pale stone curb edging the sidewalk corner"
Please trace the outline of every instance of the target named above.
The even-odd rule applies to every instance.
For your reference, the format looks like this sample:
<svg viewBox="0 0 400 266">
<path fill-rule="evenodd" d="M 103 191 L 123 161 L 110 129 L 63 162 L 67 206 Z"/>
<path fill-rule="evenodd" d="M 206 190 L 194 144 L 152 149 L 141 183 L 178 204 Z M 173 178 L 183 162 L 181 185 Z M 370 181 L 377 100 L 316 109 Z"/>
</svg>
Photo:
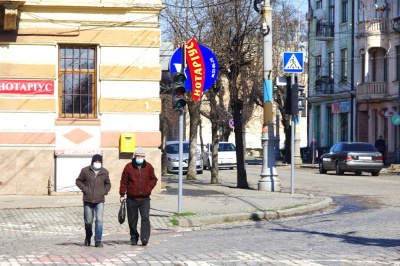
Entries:
<svg viewBox="0 0 400 266">
<path fill-rule="evenodd" d="M 187 218 L 177 218 L 177 226 L 181 227 L 199 227 L 218 223 L 227 223 L 233 221 L 261 221 L 261 220 L 272 220 L 283 217 L 295 216 L 304 213 L 310 213 L 318 211 L 329 207 L 333 200 L 331 198 L 324 198 L 321 202 L 308 204 L 305 206 L 300 206 L 293 209 L 278 210 L 278 211 L 258 211 L 251 213 L 228 213 L 228 214 L 218 214 L 210 215 L 204 217 L 187 217 Z"/>
</svg>

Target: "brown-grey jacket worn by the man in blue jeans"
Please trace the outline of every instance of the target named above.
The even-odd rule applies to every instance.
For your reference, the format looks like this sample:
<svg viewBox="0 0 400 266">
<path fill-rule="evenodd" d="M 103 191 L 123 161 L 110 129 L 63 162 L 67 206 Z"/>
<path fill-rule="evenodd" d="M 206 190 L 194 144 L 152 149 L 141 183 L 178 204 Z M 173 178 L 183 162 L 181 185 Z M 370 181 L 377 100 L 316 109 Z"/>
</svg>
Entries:
<svg viewBox="0 0 400 266">
<path fill-rule="evenodd" d="M 75 184 L 83 192 L 83 201 L 100 203 L 104 202 L 104 196 L 111 189 L 110 177 L 107 169 L 100 168 L 97 173 L 94 172 L 92 166 L 82 168 Z"/>
</svg>

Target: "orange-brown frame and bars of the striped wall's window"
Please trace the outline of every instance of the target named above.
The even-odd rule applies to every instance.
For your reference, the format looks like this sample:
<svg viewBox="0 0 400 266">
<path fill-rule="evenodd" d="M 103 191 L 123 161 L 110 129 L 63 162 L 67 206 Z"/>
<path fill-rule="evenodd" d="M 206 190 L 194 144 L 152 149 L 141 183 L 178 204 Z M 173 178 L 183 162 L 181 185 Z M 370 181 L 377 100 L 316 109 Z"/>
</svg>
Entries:
<svg viewBox="0 0 400 266">
<path fill-rule="evenodd" d="M 67 55 L 67 50 L 72 49 L 72 57 Z M 76 49 L 79 50 L 79 56 L 75 55 Z M 87 57 L 82 57 L 84 50 L 87 49 Z M 58 45 L 58 117 L 59 118 L 70 118 L 70 119 L 95 119 L 97 118 L 97 46 L 90 44 L 60 44 Z M 93 56 L 91 57 L 91 54 Z M 63 61 L 64 60 L 64 61 Z M 87 67 L 84 67 L 84 62 L 87 60 Z M 68 62 L 69 61 L 69 62 Z M 67 64 L 71 65 L 71 68 L 64 68 Z M 77 66 L 77 67 L 76 67 Z M 83 66 L 83 67 L 82 67 Z M 72 85 L 68 88 L 65 81 L 65 76 L 72 76 L 71 84 L 76 83 L 76 78 L 79 80 L 79 93 L 76 93 L 76 87 Z M 85 83 L 82 82 L 83 78 L 91 77 L 87 79 Z M 87 85 L 87 93 L 82 93 L 82 84 Z M 68 94 L 65 90 L 69 90 Z M 83 88 L 85 90 L 85 87 Z M 71 106 L 65 105 L 66 97 L 71 97 Z M 87 97 L 86 106 L 85 99 Z M 78 100 L 78 106 L 75 105 L 76 99 Z M 69 112 L 67 109 L 70 108 Z M 76 108 L 79 111 L 76 111 Z M 82 109 L 86 109 L 84 111 Z"/>
</svg>

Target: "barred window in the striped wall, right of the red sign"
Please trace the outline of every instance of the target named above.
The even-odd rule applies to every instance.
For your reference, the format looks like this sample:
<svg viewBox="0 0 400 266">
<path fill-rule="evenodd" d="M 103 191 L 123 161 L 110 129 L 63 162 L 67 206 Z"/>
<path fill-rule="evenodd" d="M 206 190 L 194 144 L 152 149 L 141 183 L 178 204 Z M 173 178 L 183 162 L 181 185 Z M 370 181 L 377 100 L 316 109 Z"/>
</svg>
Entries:
<svg viewBox="0 0 400 266">
<path fill-rule="evenodd" d="M 96 117 L 96 47 L 60 45 L 59 116 Z"/>
</svg>

